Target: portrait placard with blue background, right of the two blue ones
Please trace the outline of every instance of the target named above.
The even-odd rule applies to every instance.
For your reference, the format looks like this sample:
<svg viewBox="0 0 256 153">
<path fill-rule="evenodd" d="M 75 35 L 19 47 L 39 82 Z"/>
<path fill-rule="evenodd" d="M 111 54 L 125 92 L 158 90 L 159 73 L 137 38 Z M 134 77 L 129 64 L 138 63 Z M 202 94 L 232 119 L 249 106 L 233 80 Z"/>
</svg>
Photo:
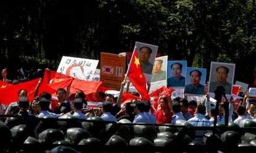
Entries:
<svg viewBox="0 0 256 153">
<path fill-rule="evenodd" d="M 207 70 L 205 68 L 187 67 L 185 94 L 187 96 L 205 95 L 205 81 Z"/>
</svg>

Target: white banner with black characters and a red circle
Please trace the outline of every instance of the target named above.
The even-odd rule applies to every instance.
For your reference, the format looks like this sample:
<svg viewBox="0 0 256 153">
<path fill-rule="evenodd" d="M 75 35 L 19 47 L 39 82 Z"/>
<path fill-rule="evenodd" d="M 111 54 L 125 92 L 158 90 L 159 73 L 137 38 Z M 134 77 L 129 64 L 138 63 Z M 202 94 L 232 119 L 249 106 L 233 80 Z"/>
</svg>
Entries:
<svg viewBox="0 0 256 153">
<path fill-rule="evenodd" d="M 92 81 L 99 60 L 62 56 L 57 72 L 80 80 Z"/>
</svg>

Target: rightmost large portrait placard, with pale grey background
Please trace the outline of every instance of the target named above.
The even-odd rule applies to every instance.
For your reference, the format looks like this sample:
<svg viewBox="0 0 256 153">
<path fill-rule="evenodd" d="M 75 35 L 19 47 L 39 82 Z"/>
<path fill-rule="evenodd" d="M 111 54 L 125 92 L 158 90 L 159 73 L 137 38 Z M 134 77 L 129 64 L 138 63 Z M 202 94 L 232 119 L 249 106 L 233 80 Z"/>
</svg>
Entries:
<svg viewBox="0 0 256 153">
<path fill-rule="evenodd" d="M 218 86 L 224 88 L 223 92 L 228 97 L 232 95 L 235 67 L 236 64 L 211 62 L 208 85 L 208 93 L 211 97 L 215 97 L 215 91 Z"/>
</svg>

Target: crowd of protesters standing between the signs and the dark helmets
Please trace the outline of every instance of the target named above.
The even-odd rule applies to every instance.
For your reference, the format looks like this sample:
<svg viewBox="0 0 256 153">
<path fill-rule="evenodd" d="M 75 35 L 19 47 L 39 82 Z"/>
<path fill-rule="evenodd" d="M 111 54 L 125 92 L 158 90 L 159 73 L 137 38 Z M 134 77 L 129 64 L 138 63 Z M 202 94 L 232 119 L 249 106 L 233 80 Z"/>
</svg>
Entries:
<svg viewBox="0 0 256 153">
<path fill-rule="evenodd" d="M 2 71 L 3 80 L 15 84 L 14 80 L 11 81 L 6 78 L 5 71 Z M 19 80 L 19 83 L 22 83 L 25 80 L 41 78 L 42 76 L 43 72 L 38 69 L 36 73 L 19 76 L 15 80 Z M 38 85 L 40 85 L 40 81 Z M 28 131 L 34 131 L 30 132 L 29 135 L 34 138 L 38 138 L 38 133 L 41 132 L 40 128 L 38 128 L 40 121 L 38 118 L 49 116 L 53 118 L 68 118 L 72 116 L 82 120 L 96 116 L 107 122 L 118 123 L 122 119 L 127 119 L 129 123 L 159 125 L 177 125 L 179 120 L 184 120 L 192 126 L 212 126 L 215 122 L 225 124 L 226 118 L 228 118 L 228 123 L 236 123 L 240 127 L 242 125 L 239 123 L 244 119 L 256 122 L 256 101 L 248 93 L 244 94 L 243 99 L 239 99 L 237 109 L 234 109 L 232 98 L 226 102 L 220 101 L 216 107 L 216 105 L 211 104 L 208 94 L 203 102 L 188 101 L 186 97 L 171 99 L 171 95 L 169 95 L 160 98 L 160 109 L 155 110 L 155 112 L 150 111 L 152 109 L 150 101 L 132 99 L 126 104 L 118 105 L 117 97 L 113 94 L 102 92 L 98 93 L 98 101 L 100 102 L 93 108 L 88 105 L 86 95 L 79 90 L 74 94 L 67 95 L 66 89 L 57 89 L 58 105 L 56 107 L 51 104 L 52 96 L 47 92 L 39 93 L 40 96 L 35 94 L 32 102 L 28 101 L 26 89 L 20 89 L 17 94 L 17 101 L 9 105 L 2 105 L 4 109 L 2 109 L 1 114 L 18 115 L 25 118 L 27 125 L 29 125 Z M 139 95 L 139 93 L 135 94 Z M 228 104 L 228 114 L 225 113 L 225 104 Z M 225 117 L 226 115 L 228 117 Z M 2 118 L 2 122 L 5 122 L 5 120 L 6 118 Z M 35 132 L 35 130 L 38 131 Z M 195 139 L 202 141 L 204 134 L 197 133 Z"/>
</svg>

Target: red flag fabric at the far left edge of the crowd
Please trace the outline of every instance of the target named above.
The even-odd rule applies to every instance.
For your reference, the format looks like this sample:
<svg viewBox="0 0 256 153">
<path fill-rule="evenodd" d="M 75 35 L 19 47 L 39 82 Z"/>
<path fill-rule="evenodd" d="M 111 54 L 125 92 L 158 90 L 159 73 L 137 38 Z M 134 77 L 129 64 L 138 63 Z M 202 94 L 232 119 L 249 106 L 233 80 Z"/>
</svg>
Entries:
<svg viewBox="0 0 256 153">
<path fill-rule="evenodd" d="M 0 102 L 4 105 L 9 105 L 11 102 L 18 100 L 18 92 L 20 89 L 26 89 L 28 91 L 28 100 L 31 102 L 34 97 L 35 88 L 38 84 L 39 78 L 17 85 L 4 84 L 4 88 L 0 88 Z"/>
</svg>

